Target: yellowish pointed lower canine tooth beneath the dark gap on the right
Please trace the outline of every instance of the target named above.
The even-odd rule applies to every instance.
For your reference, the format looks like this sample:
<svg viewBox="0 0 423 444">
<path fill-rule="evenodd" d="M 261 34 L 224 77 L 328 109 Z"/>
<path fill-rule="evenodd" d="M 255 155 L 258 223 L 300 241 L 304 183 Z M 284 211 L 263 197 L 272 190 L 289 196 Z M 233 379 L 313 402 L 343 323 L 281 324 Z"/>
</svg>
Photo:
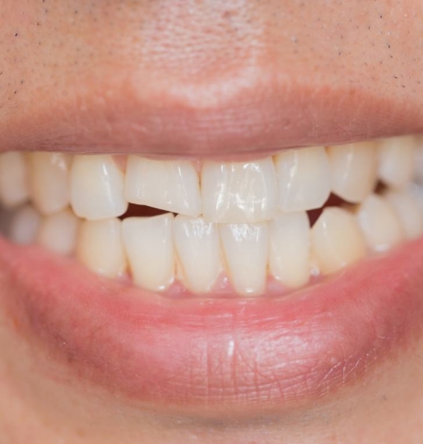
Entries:
<svg viewBox="0 0 423 444">
<path fill-rule="evenodd" d="M 333 206 L 314 223 L 312 250 L 319 271 L 331 274 L 365 257 L 366 243 L 354 216 Z"/>
</svg>

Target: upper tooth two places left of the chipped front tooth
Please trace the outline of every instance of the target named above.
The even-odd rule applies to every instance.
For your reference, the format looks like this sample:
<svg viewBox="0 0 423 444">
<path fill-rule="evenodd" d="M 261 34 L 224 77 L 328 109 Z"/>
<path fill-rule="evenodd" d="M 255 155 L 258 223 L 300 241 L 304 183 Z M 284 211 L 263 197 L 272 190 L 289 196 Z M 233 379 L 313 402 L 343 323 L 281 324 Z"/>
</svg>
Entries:
<svg viewBox="0 0 423 444">
<path fill-rule="evenodd" d="M 53 214 L 69 205 L 69 169 L 72 156 L 62 153 L 29 154 L 30 195 L 42 214 Z"/>
</svg>

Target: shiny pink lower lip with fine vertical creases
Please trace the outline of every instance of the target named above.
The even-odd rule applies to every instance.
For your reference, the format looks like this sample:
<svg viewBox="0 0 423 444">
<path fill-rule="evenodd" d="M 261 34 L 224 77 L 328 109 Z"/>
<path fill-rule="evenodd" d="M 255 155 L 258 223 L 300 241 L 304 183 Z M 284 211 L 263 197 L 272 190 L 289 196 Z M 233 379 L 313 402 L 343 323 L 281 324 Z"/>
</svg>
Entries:
<svg viewBox="0 0 423 444">
<path fill-rule="evenodd" d="M 284 409 L 350 386 L 423 326 L 423 240 L 279 300 L 165 300 L 0 239 L 25 340 L 81 381 L 163 409 Z"/>
</svg>

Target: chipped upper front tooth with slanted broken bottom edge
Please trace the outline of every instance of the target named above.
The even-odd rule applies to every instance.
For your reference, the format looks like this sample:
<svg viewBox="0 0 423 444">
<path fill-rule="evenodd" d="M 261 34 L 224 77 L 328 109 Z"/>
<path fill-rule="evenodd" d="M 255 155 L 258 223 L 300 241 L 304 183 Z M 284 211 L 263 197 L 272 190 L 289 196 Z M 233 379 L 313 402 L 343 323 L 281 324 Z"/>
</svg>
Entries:
<svg viewBox="0 0 423 444">
<path fill-rule="evenodd" d="M 190 161 L 157 161 L 128 156 L 125 197 L 133 204 L 199 216 L 200 180 Z"/>
</svg>

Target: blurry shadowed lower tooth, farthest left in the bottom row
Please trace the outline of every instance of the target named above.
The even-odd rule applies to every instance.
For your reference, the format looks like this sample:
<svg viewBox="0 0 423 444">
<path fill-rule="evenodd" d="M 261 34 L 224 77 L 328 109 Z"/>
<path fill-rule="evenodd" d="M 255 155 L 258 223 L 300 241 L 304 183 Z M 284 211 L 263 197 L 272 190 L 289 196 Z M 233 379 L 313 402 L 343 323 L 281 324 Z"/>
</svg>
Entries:
<svg viewBox="0 0 423 444">
<path fill-rule="evenodd" d="M 40 223 L 41 216 L 33 206 L 22 206 L 11 217 L 8 238 L 20 245 L 33 244 L 37 240 Z"/>
</svg>

